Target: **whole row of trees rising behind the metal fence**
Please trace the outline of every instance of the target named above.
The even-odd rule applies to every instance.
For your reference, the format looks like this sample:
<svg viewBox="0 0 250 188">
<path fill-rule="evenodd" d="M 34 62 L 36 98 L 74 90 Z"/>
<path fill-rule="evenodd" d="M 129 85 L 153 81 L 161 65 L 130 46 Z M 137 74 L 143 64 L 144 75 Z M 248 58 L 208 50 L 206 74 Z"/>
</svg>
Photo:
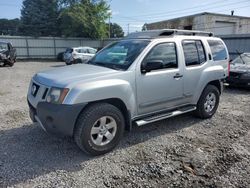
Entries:
<svg viewBox="0 0 250 188">
<path fill-rule="evenodd" d="M 21 20 L 0 19 L 0 34 L 102 39 L 109 36 L 109 5 L 105 0 L 24 0 Z M 111 37 L 123 37 L 111 24 Z"/>
</svg>

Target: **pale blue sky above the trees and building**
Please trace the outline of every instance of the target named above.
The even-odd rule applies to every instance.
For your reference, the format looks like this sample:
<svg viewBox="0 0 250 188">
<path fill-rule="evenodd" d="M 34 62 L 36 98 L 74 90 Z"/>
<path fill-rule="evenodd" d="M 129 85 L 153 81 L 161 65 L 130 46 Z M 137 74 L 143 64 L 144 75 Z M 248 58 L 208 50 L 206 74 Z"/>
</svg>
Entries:
<svg viewBox="0 0 250 188">
<path fill-rule="evenodd" d="M 0 0 L 0 18 L 19 18 L 23 0 Z M 214 12 L 250 17 L 250 0 L 107 0 L 111 22 L 122 26 L 125 33 L 140 31 L 152 23 L 201 12 Z M 108 22 L 108 20 L 107 20 Z"/>
</svg>

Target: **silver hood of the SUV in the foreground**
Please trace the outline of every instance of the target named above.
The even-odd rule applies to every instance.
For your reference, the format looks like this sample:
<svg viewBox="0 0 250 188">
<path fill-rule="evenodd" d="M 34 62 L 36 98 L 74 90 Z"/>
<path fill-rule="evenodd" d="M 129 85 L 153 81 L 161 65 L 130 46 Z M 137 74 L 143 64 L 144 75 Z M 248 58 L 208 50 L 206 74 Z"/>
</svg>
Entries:
<svg viewBox="0 0 250 188">
<path fill-rule="evenodd" d="M 46 86 L 66 87 L 73 82 L 94 79 L 117 72 L 106 67 L 78 64 L 42 71 L 37 73 L 33 79 Z"/>
</svg>

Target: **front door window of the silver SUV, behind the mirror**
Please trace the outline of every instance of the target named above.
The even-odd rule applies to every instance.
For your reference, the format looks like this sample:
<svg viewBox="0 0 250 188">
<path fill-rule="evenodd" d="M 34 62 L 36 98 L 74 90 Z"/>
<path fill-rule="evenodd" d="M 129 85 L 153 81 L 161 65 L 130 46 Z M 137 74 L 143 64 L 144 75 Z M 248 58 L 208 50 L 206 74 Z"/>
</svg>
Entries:
<svg viewBox="0 0 250 188">
<path fill-rule="evenodd" d="M 144 62 L 162 61 L 165 68 L 178 68 L 175 43 L 163 43 L 155 46 L 147 55 Z"/>
</svg>

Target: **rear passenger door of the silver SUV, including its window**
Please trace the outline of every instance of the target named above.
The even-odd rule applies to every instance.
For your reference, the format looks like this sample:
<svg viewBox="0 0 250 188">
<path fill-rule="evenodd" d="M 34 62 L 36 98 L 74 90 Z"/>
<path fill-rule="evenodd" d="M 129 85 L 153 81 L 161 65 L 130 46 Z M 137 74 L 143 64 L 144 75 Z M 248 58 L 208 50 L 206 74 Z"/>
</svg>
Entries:
<svg viewBox="0 0 250 188">
<path fill-rule="evenodd" d="M 185 59 L 184 96 L 190 101 L 197 91 L 202 71 L 207 64 L 207 55 L 201 40 L 183 40 L 182 48 Z"/>
</svg>

